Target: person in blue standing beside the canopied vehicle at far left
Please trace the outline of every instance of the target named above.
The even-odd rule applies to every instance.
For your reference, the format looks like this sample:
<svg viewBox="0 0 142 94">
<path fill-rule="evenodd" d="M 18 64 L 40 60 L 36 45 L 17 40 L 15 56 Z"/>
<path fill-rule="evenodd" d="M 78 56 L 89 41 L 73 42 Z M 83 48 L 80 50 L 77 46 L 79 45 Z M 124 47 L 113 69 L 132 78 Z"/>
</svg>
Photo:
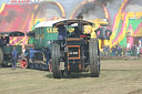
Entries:
<svg viewBox="0 0 142 94">
<path fill-rule="evenodd" d="M 13 46 L 12 51 L 12 69 L 17 69 L 17 62 L 18 62 L 18 51 L 16 46 Z"/>
</svg>

